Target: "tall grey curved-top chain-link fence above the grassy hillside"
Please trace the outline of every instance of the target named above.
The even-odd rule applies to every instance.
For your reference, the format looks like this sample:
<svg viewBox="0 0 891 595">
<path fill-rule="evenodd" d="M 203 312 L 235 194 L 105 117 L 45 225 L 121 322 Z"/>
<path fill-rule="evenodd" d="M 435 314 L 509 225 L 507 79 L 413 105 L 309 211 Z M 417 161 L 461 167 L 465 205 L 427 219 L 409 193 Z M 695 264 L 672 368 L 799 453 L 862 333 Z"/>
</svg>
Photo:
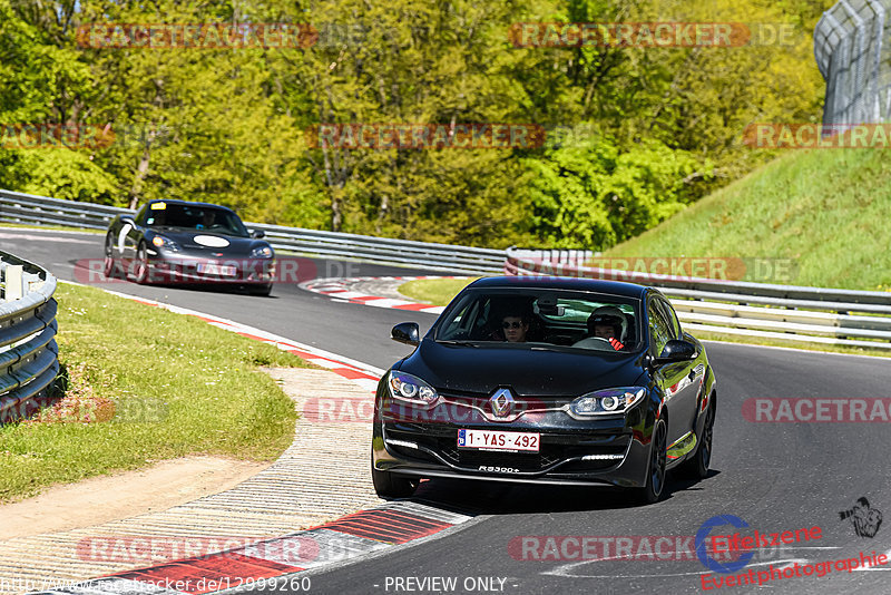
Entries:
<svg viewBox="0 0 891 595">
<path fill-rule="evenodd" d="M 891 0 L 840 0 L 814 31 L 826 80 L 823 124 L 891 119 Z"/>
</svg>

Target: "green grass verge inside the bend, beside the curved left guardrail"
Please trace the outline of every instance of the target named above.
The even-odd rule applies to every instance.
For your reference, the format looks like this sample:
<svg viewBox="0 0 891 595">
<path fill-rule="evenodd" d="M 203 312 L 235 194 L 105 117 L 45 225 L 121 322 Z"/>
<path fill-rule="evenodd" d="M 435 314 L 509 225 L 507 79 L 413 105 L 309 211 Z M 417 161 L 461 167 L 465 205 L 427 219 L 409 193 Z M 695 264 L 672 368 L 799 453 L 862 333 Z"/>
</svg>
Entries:
<svg viewBox="0 0 891 595">
<path fill-rule="evenodd" d="M 300 358 L 95 287 L 56 299 L 70 386 L 42 420 L 0 427 L 0 501 L 192 453 L 273 460 L 292 442 L 294 404 L 258 367 Z"/>
</svg>

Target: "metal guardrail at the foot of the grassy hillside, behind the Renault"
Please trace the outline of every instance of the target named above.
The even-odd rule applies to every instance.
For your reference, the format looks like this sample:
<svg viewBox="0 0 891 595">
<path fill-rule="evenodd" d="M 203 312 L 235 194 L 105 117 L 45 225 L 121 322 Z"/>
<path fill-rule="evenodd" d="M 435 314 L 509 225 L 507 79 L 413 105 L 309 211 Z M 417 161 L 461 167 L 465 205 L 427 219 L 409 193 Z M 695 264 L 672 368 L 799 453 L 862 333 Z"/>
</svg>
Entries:
<svg viewBox="0 0 891 595">
<path fill-rule="evenodd" d="M 505 273 L 659 287 L 684 328 L 807 343 L 891 349 L 891 293 L 772 285 L 585 266 L 590 253 L 509 248 Z"/>
</svg>

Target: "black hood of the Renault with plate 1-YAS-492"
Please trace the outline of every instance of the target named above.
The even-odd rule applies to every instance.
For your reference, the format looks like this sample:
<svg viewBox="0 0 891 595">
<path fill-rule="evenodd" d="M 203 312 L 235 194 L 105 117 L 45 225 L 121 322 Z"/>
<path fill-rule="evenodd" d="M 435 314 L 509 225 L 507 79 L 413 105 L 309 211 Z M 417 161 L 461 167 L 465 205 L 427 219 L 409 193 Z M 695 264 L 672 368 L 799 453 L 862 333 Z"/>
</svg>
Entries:
<svg viewBox="0 0 891 595">
<path fill-rule="evenodd" d="M 421 341 L 400 370 L 440 391 L 492 392 L 510 387 L 525 397 L 578 397 L 633 386 L 643 373 L 640 353 L 569 352 L 487 343 L 481 347 Z"/>
</svg>

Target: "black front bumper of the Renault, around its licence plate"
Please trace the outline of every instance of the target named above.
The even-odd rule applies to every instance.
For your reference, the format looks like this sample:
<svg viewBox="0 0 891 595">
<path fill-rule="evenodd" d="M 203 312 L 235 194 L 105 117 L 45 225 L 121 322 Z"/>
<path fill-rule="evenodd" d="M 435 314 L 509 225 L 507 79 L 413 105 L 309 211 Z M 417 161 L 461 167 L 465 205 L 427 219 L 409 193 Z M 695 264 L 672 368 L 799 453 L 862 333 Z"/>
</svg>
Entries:
<svg viewBox="0 0 891 595">
<path fill-rule="evenodd" d="M 457 421 L 438 414 L 443 402 L 417 416 L 391 414 L 389 396 L 378 399 L 372 462 L 378 470 L 420 477 L 460 477 L 536 484 L 605 484 L 640 487 L 649 464 L 654 416 L 647 400 L 625 416 L 576 420 L 552 410 L 512 422 Z M 528 416 L 532 417 L 532 416 Z M 438 419 L 439 418 L 439 419 Z M 444 421 L 443 421 L 444 420 Z M 501 452 L 458 447 L 459 429 L 540 435 L 538 452 Z"/>
</svg>

